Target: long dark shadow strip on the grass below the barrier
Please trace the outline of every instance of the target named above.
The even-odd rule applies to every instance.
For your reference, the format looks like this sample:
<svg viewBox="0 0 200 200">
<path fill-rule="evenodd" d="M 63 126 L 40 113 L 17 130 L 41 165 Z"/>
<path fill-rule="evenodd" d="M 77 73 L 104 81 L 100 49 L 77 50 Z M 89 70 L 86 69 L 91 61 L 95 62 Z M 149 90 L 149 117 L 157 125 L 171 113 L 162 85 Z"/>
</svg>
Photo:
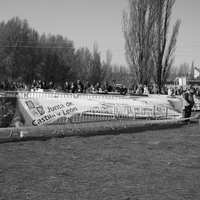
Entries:
<svg viewBox="0 0 200 200">
<path fill-rule="evenodd" d="M 198 122 L 193 122 L 191 125 L 196 125 Z M 112 127 L 102 128 L 101 130 L 79 130 L 69 133 L 42 133 L 41 135 L 29 135 L 20 138 L 18 137 L 10 137 L 10 138 L 0 138 L 0 144 L 2 143 L 12 143 L 12 142 L 26 142 L 26 141 L 47 141 L 52 138 L 65 138 L 65 137 L 95 137 L 95 136 L 103 136 L 103 135 L 120 135 L 120 134 L 132 134 L 132 133 L 141 133 L 145 131 L 159 131 L 159 130 L 172 130 L 181 127 L 191 126 L 185 123 L 174 123 L 174 124 L 148 124 L 148 125 L 135 125 L 134 127 Z"/>
</svg>

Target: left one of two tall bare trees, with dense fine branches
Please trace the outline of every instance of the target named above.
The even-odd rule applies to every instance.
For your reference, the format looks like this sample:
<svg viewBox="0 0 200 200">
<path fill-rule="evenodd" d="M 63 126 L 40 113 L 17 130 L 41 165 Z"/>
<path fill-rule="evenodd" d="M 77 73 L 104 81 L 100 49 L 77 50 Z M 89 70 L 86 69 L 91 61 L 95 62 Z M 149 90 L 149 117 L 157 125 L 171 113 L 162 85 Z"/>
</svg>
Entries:
<svg viewBox="0 0 200 200">
<path fill-rule="evenodd" d="M 148 84 L 153 67 L 151 52 L 155 40 L 154 0 L 129 0 L 123 13 L 125 56 L 134 82 Z"/>
</svg>

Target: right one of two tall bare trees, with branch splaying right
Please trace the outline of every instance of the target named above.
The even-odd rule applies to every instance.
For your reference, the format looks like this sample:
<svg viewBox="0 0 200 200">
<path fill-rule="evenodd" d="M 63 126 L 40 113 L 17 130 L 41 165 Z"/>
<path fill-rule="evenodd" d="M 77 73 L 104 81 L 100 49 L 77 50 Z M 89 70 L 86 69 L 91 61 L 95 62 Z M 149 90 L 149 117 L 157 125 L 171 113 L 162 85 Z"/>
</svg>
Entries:
<svg viewBox="0 0 200 200">
<path fill-rule="evenodd" d="M 154 58 L 154 81 L 158 84 L 161 91 L 167 78 L 170 76 L 174 57 L 173 53 L 176 48 L 178 30 L 180 20 L 177 20 L 172 31 L 169 43 L 167 41 L 170 25 L 170 17 L 172 7 L 175 0 L 154 0 L 156 7 L 156 23 L 155 23 L 155 48 L 153 51 Z"/>
</svg>

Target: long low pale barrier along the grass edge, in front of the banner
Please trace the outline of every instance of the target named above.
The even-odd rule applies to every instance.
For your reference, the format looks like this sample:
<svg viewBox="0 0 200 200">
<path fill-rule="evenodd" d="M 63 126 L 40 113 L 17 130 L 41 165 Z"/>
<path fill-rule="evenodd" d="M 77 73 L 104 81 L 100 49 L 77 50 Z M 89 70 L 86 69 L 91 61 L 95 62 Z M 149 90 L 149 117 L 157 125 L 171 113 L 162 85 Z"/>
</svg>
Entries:
<svg viewBox="0 0 200 200">
<path fill-rule="evenodd" d="M 108 120 L 108 118 L 106 118 Z M 200 115 L 197 114 L 194 117 L 190 117 L 187 119 L 200 119 Z M 66 121 L 65 124 L 51 124 L 47 126 L 28 126 L 28 127 L 8 127 L 8 128 L 1 128 L 0 132 L 9 132 L 9 138 L 12 137 L 13 134 L 17 134 L 19 138 L 23 138 L 24 136 L 28 135 L 28 137 L 38 137 L 41 136 L 38 134 L 39 131 L 42 132 L 48 132 L 48 135 L 50 134 L 49 131 L 54 131 L 53 135 L 55 135 L 57 132 L 61 132 L 63 135 L 72 134 L 72 132 L 75 132 L 77 130 L 89 130 L 89 129 L 97 129 L 100 128 L 101 130 L 108 127 L 111 129 L 115 129 L 118 127 L 132 127 L 134 125 L 147 125 L 147 124 L 167 124 L 167 123 L 178 123 L 181 121 L 186 120 L 186 118 L 171 118 L 171 119 L 163 119 L 163 120 L 151 120 L 151 119 L 143 119 L 143 120 L 133 120 L 131 118 L 127 118 L 126 120 L 122 120 L 122 118 L 112 118 L 111 121 L 95 121 L 95 122 L 85 122 L 85 123 L 71 123 L 71 121 Z M 111 123 L 110 123 L 111 122 Z M 200 121 L 199 121 L 200 123 Z M 30 133 L 34 131 L 33 133 Z M 30 133 L 30 134 L 29 134 Z M 53 137 L 51 135 L 51 137 Z M 44 136 L 44 134 L 42 134 Z M 2 134 L 1 134 L 2 138 Z"/>
</svg>

